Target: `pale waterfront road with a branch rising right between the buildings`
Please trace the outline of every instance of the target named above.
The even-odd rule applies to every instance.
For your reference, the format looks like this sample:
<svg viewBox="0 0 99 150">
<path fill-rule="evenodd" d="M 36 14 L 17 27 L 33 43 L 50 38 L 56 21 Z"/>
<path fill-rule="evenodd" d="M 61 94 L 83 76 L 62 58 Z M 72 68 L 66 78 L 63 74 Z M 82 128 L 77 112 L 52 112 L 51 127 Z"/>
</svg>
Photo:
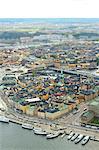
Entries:
<svg viewBox="0 0 99 150">
<path fill-rule="evenodd" d="M 2 95 L 2 93 L 1 93 Z M 3 95 L 2 95 L 3 96 Z M 5 96 L 3 97 L 5 99 Z M 42 129 L 46 130 L 46 131 L 51 131 L 51 124 L 59 124 L 56 127 L 54 127 L 53 129 L 59 129 L 61 127 L 61 129 L 65 128 L 64 130 L 69 133 L 71 130 L 74 131 L 75 133 L 80 133 L 83 135 L 90 135 L 91 137 L 96 137 L 97 139 L 99 139 L 99 130 L 96 129 L 89 129 L 89 128 L 85 128 L 85 127 L 81 127 L 80 125 L 75 125 L 75 122 L 77 120 L 79 120 L 79 116 L 81 115 L 81 113 L 83 112 L 83 109 L 85 108 L 85 104 L 82 103 L 80 106 L 80 111 L 79 113 L 73 115 L 72 113 L 70 113 L 68 116 L 64 116 L 61 119 L 58 119 L 56 121 L 49 121 L 46 119 L 38 119 L 36 117 L 29 117 L 23 114 L 19 114 L 17 112 L 15 112 L 14 110 L 12 110 L 11 108 L 8 109 L 8 112 L 6 113 L 7 117 L 19 122 L 25 122 L 25 123 L 30 123 L 33 126 L 38 126 L 41 127 Z M 52 131 L 51 131 L 52 132 Z"/>
</svg>

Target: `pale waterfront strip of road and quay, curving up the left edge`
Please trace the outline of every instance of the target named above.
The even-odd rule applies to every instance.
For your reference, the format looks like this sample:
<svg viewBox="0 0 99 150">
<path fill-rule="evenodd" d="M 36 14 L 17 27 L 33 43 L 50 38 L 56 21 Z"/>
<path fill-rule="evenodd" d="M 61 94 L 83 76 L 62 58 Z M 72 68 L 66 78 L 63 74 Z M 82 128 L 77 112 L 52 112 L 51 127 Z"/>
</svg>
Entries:
<svg viewBox="0 0 99 150">
<path fill-rule="evenodd" d="M 1 96 L 1 101 L 0 103 L 3 104 L 3 107 L 5 111 L 0 111 L 0 115 L 3 115 L 9 119 L 10 122 L 13 122 L 15 124 L 22 125 L 23 123 L 27 123 L 32 125 L 33 127 L 40 127 L 44 131 L 48 133 L 54 133 L 54 132 L 65 132 L 67 135 L 70 133 L 70 131 L 73 131 L 74 133 L 79 133 L 83 135 L 89 135 L 90 137 L 95 137 L 93 140 L 96 140 L 99 142 L 99 131 L 95 129 L 89 129 L 89 128 L 84 128 L 81 126 L 73 125 L 73 124 L 68 124 L 68 123 L 62 123 L 60 121 L 55 120 L 54 122 L 51 120 L 43 120 L 40 118 L 35 118 L 35 117 L 30 117 L 27 115 L 22 115 L 16 113 L 14 110 L 9 108 L 6 105 L 5 100 L 3 99 L 4 97 Z M 42 122 L 41 122 L 42 120 Z M 56 125 L 58 123 L 58 125 Z M 61 129 L 61 130 L 60 130 Z"/>
</svg>

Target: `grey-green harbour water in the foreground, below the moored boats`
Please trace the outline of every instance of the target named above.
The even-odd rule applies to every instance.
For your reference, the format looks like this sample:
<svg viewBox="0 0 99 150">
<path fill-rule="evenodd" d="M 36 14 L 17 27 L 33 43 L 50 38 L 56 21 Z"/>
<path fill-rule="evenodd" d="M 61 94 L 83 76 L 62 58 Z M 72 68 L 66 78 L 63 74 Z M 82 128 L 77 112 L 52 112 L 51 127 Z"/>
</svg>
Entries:
<svg viewBox="0 0 99 150">
<path fill-rule="evenodd" d="M 0 150 L 99 150 L 99 143 L 89 141 L 85 146 L 58 137 L 47 140 L 13 123 L 0 123 Z"/>
</svg>

